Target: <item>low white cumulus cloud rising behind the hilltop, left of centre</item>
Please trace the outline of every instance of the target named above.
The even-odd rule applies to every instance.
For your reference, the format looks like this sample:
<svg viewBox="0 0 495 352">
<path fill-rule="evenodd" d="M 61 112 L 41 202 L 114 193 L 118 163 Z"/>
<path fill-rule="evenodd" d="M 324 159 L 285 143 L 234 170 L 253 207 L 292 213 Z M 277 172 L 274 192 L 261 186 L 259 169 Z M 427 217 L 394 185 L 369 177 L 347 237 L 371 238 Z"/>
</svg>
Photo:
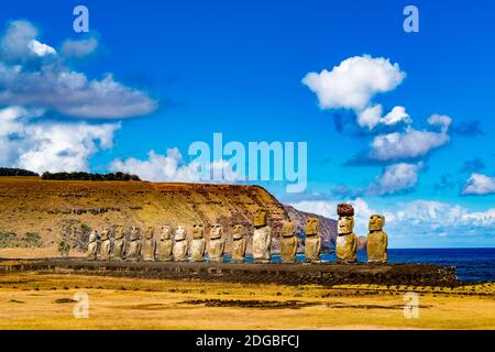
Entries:
<svg viewBox="0 0 495 352">
<path fill-rule="evenodd" d="M 127 158 L 114 160 L 110 169 L 130 173 L 140 176 L 141 179 L 150 182 L 182 182 L 182 183 L 235 183 L 238 174 L 232 169 L 227 161 L 216 161 L 207 165 L 204 173 L 202 165 L 198 162 L 186 163 L 179 150 L 168 148 L 166 154 L 157 154 L 151 151 L 147 160 Z M 222 170 L 223 178 L 215 180 L 212 174 L 215 170 Z M 209 175 L 205 177 L 205 175 Z"/>
</svg>

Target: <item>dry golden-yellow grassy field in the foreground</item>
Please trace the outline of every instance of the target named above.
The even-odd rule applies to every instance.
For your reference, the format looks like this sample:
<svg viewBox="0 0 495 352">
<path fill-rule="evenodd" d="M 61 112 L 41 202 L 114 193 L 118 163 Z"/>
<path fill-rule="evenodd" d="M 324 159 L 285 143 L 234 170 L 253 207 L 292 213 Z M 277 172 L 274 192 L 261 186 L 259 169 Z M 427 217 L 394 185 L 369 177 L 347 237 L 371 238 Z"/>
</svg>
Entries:
<svg viewBox="0 0 495 352">
<path fill-rule="evenodd" d="M 76 293 L 89 318 L 75 318 Z M 405 318 L 404 294 L 419 297 Z M 0 275 L 0 329 L 495 329 L 495 284 L 278 286 L 69 274 Z"/>
</svg>

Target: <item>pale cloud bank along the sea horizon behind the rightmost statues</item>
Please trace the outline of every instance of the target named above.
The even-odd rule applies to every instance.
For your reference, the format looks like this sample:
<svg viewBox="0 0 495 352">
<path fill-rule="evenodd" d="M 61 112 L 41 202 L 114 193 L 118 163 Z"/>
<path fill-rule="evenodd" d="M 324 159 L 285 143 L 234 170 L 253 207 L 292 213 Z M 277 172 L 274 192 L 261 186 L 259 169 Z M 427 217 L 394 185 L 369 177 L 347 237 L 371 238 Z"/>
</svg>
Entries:
<svg viewBox="0 0 495 352">
<path fill-rule="evenodd" d="M 415 245 L 417 248 L 438 238 L 460 240 L 473 237 L 487 238 L 492 241 L 495 235 L 495 208 L 485 211 L 471 211 L 465 207 L 432 200 L 414 200 L 394 204 L 393 206 L 372 207 L 364 199 L 349 201 L 355 208 L 355 229 L 359 234 L 367 233 L 367 222 L 372 213 L 386 217 L 385 231 L 392 245 Z M 336 201 L 300 201 L 290 206 L 302 211 L 318 213 L 329 218 L 337 218 Z M 438 242 L 437 242 L 438 243 Z M 447 246 L 452 242 L 446 242 Z M 460 242 L 462 243 L 462 242 Z"/>
</svg>

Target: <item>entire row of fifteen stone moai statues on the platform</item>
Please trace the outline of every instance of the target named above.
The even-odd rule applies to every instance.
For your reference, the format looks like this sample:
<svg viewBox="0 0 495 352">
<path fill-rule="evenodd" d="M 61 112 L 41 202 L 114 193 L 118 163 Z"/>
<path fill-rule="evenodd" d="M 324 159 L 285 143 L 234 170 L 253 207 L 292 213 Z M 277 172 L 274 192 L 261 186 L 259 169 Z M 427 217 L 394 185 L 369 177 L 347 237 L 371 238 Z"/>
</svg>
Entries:
<svg viewBox="0 0 495 352">
<path fill-rule="evenodd" d="M 353 232 L 354 209 L 350 205 L 338 206 L 338 263 L 355 263 L 358 237 Z M 387 262 L 387 234 L 383 232 L 385 218 L 380 215 L 370 218 L 370 233 L 367 235 L 367 258 L 370 263 Z M 272 261 L 272 228 L 267 224 L 267 211 L 258 209 L 254 217 L 253 233 L 253 262 L 271 263 Z M 113 232 L 113 250 L 111 252 L 111 232 Z M 187 231 L 179 226 L 174 235 L 169 226 L 164 226 L 158 241 L 154 239 L 154 228 L 145 231 L 141 239 L 141 229 L 132 228 L 129 243 L 125 243 L 123 228 L 118 227 L 110 231 L 103 229 L 98 245 L 98 233 L 92 231 L 89 239 L 88 258 L 102 261 L 110 258 L 116 261 L 175 261 L 175 262 L 202 262 L 206 254 L 210 262 L 222 262 L 226 252 L 226 239 L 220 223 L 213 223 L 210 229 L 209 240 L 205 239 L 205 226 L 197 223 L 193 227 L 193 240 L 187 239 Z M 321 235 L 318 218 L 308 218 L 305 227 L 305 256 L 307 263 L 319 263 L 321 254 Z M 231 241 L 231 262 L 243 263 L 245 261 L 246 238 L 244 227 L 233 227 Z M 280 257 L 283 263 L 296 263 L 298 238 L 294 222 L 283 221 L 280 230 Z M 99 249 L 99 251 L 98 251 Z M 98 255 L 99 252 L 99 255 Z"/>
</svg>

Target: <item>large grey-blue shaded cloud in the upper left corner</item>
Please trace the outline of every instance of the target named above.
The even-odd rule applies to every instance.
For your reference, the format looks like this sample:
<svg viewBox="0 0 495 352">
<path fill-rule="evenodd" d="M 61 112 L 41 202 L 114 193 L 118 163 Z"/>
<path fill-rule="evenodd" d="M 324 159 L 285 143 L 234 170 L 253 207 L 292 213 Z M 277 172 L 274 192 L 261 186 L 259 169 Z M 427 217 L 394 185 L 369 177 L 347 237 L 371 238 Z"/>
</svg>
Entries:
<svg viewBox="0 0 495 352">
<path fill-rule="evenodd" d="M 132 118 L 157 109 L 147 94 L 116 81 L 111 74 L 90 79 L 70 69 L 55 50 L 36 37 L 37 30 L 26 21 L 11 22 L 3 35 L 0 105 L 34 106 L 66 117 L 96 119 Z M 90 46 L 90 42 L 72 42 L 65 50 L 81 54 Z"/>
</svg>

